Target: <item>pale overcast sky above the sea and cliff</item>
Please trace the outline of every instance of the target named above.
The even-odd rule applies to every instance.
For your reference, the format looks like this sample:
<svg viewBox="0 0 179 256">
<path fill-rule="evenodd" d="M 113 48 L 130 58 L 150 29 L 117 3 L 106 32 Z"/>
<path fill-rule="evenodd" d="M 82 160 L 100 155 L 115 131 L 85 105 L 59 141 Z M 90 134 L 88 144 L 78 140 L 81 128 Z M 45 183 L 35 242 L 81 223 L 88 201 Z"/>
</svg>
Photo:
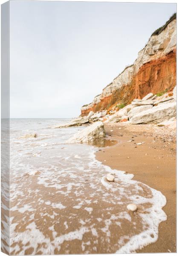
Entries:
<svg viewBox="0 0 179 256">
<path fill-rule="evenodd" d="M 174 12 L 172 3 L 11 1 L 11 118 L 78 116 Z"/>
</svg>

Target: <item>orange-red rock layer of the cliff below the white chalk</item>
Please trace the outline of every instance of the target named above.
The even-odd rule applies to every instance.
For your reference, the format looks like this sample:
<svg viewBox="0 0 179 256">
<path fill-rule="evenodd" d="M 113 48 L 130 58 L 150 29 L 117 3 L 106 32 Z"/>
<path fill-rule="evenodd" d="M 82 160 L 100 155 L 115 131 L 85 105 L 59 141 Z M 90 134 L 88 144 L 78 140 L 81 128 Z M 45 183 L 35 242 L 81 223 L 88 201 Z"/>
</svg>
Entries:
<svg viewBox="0 0 179 256">
<path fill-rule="evenodd" d="M 141 99 L 147 93 L 158 93 L 164 90 L 173 90 L 176 85 L 176 49 L 156 60 L 143 64 L 130 84 L 115 90 L 111 95 L 104 97 L 92 108 L 81 111 L 87 116 L 90 111 L 108 110 L 118 102 L 129 104 L 133 99 Z"/>
</svg>

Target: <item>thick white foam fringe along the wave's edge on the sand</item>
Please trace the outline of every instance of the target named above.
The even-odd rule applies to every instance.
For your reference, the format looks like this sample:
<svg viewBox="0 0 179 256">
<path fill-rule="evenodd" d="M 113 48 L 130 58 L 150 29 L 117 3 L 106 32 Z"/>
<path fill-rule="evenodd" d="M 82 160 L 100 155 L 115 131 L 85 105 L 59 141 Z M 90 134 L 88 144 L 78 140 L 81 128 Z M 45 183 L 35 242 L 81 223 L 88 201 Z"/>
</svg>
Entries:
<svg viewBox="0 0 179 256">
<path fill-rule="evenodd" d="M 105 166 L 105 169 L 107 170 L 107 172 L 110 172 L 113 175 L 115 174 L 115 180 L 121 180 L 121 179 L 123 181 L 127 180 L 128 184 L 136 184 L 136 187 L 138 186 L 138 184 L 141 184 L 136 180 L 131 180 L 134 177 L 133 174 L 125 175 L 125 172 L 112 170 L 110 169 L 109 166 Z M 107 182 L 105 176 L 101 178 L 101 183 L 107 188 L 107 190 L 115 191 L 115 188 L 113 187 L 113 182 Z M 165 196 L 162 195 L 160 191 L 150 188 L 147 185 L 145 186 L 152 193 L 153 196 L 151 198 L 144 198 L 139 195 L 137 195 L 137 197 L 135 195 L 130 195 L 130 199 L 131 199 L 131 203 L 137 204 L 137 205 L 144 204 L 144 203 L 151 204 L 151 207 L 147 208 L 148 212 L 145 212 L 145 213 L 138 212 L 140 217 L 143 219 L 144 225 L 147 228 L 142 233 L 137 234 L 135 236 L 132 236 L 132 237 L 125 236 L 125 239 L 129 239 L 129 241 L 125 245 L 123 245 L 119 250 L 117 250 L 116 253 L 135 253 L 136 250 L 142 249 L 144 246 L 156 242 L 159 235 L 159 224 L 162 221 L 167 220 L 167 215 L 162 210 L 162 208 L 167 203 Z M 119 187 L 118 189 L 121 190 L 121 187 Z M 141 190 L 141 187 L 138 186 L 138 189 Z M 122 194 L 122 191 L 120 194 Z M 121 212 L 118 217 L 126 218 L 127 220 L 131 221 L 131 217 L 127 211 Z M 104 228 L 104 232 L 107 232 L 107 230 L 109 229 Z"/>
</svg>

